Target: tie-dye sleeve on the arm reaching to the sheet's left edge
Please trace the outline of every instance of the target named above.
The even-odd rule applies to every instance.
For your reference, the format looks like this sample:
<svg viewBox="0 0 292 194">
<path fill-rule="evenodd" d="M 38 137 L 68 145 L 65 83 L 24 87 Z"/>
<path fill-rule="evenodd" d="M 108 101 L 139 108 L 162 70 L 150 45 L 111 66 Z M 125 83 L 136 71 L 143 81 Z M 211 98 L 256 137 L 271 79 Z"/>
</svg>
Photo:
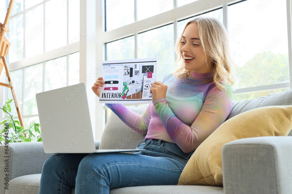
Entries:
<svg viewBox="0 0 292 194">
<path fill-rule="evenodd" d="M 123 104 L 105 104 L 109 107 L 128 127 L 144 135 L 148 131 L 148 125 L 151 119 L 150 105 L 142 115 L 129 110 Z"/>
</svg>

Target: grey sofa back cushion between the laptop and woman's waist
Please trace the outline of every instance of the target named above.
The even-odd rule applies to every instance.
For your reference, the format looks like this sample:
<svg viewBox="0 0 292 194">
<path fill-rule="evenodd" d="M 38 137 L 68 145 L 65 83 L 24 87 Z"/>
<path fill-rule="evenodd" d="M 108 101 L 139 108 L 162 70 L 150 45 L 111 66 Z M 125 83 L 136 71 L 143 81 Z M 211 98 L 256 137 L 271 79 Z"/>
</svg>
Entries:
<svg viewBox="0 0 292 194">
<path fill-rule="evenodd" d="M 129 109 L 142 115 L 146 107 L 129 107 Z M 102 133 L 99 149 L 135 149 L 145 136 L 128 127 L 112 112 Z"/>
</svg>

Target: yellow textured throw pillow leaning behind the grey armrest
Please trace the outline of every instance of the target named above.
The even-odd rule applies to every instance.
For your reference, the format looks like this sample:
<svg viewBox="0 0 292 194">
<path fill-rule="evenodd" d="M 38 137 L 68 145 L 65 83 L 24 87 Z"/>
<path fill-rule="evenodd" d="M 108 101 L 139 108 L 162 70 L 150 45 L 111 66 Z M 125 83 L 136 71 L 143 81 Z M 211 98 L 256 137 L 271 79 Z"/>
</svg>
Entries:
<svg viewBox="0 0 292 194">
<path fill-rule="evenodd" d="M 292 106 L 266 106 L 225 121 L 195 150 L 178 185 L 223 186 L 221 149 L 224 144 L 260 136 L 287 136 L 292 128 Z"/>
</svg>

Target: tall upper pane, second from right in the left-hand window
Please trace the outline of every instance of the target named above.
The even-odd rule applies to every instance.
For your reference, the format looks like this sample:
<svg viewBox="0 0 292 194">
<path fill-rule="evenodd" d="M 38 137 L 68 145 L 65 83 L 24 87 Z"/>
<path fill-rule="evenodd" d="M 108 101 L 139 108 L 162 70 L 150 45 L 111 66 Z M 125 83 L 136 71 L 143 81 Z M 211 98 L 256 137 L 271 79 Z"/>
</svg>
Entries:
<svg viewBox="0 0 292 194">
<path fill-rule="evenodd" d="M 48 1 L 46 3 L 45 22 L 45 51 L 66 46 L 67 5 L 60 0 Z"/>
</svg>

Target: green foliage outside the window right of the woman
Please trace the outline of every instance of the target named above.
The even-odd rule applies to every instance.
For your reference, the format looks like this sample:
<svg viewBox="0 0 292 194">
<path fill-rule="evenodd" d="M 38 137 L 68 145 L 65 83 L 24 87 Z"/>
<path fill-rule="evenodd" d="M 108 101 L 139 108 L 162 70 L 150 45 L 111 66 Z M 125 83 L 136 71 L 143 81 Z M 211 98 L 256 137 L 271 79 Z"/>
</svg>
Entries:
<svg viewBox="0 0 292 194">
<path fill-rule="evenodd" d="M 234 75 L 236 78 L 232 87 L 235 89 L 290 82 L 288 53 L 275 54 L 271 51 L 258 53 L 246 61 L 244 66 L 238 67 Z M 234 94 L 233 101 L 253 99 L 290 89 L 283 87 L 284 84 L 273 90 Z"/>
</svg>

